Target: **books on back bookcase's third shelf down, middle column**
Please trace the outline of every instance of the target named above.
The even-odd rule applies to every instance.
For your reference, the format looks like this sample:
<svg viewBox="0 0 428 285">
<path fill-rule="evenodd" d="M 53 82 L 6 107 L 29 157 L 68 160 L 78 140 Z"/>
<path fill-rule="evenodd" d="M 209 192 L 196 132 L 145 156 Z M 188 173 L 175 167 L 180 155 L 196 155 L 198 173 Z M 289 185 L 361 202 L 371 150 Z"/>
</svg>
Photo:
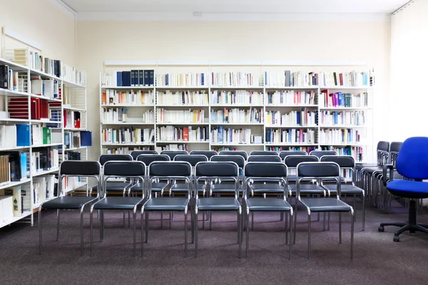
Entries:
<svg viewBox="0 0 428 285">
<path fill-rule="evenodd" d="M 211 109 L 211 123 L 263 123 L 263 117 L 263 109 Z"/>
</svg>

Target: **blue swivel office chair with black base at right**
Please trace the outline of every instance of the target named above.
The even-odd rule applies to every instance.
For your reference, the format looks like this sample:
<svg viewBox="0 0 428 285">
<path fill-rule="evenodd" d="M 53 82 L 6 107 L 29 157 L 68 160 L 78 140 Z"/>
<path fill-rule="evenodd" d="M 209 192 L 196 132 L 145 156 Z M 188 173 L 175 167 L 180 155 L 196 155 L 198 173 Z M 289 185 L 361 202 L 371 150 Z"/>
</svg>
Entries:
<svg viewBox="0 0 428 285">
<path fill-rule="evenodd" d="M 384 232 L 385 226 L 401 227 L 394 233 L 394 242 L 399 242 L 399 235 L 406 231 L 428 234 L 428 224 L 416 223 L 415 202 L 415 199 L 428 198 L 428 183 L 422 182 L 428 179 L 428 138 L 414 137 L 405 140 L 398 152 L 396 167 L 397 172 L 409 180 L 393 180 L 393 165 L 384 165 L 383 183 L 392 195 L 410 199 L 409 222 L 382 223 L 378 230 Z"/>
</svg>

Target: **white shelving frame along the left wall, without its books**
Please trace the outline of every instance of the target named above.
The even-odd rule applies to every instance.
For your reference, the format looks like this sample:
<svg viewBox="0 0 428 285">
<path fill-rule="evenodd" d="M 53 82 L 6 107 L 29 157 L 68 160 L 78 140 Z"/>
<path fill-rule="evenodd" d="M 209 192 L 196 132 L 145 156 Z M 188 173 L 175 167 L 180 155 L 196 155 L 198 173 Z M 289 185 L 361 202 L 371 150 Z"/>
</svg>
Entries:
<svg viewBox="0 0 428 285">
<path fill-rule="evenodd" d="M 27 108 L 26 112 L 28 113 L 28 118 L 0 118 L 0 125 L 16 125 L 16 124 L 25 124 L 29 126 L 29 145 L 26 146 L 17 146 L 17 147 L 0 147 L 0 152 L 2 154 L 6 154 L 7 152 L 25 152 L 27 155 L 27 161 L 26 161 L 26 168 L 27 168 L 27 177 L 22 177 L 20 181 L 9 181 L 4 182 L 0 185 L 0 190 L 9 189 L 12 187 L 21 187 L 21 191 L 26 191 L 27 196 L 29 195 L 30 204 L 29 207 L 24 208 L 24 212 L 17 217 L 13 217 L 11 219 L 6 220 L 0 220 L 0 228 L 5 227 L 11 223 L 20 221 L 24 218 L 29 218 L 29 222 L 31 222 L 31 225 L 34 224 L 34 217 L 33 214 L 38 210 L 39 205 L 41 202 L 44 202 L 44 198 L 41 198 L 41 202 L 35 202 L 34 201 L 34 183 L 36 183 L 36 180 L 39 180 L 40 177 L 44 177 L 45 175 L 58 175 L 59 165 L 63 160 L 66 159 L 67 153 L 71 151 L 77 151 L 81 152 L 81 159 L 86 160 L 86 157 L 88 157 L 88 147 L 73 147 L 73 148 L 66 148 L 65 142 L 64 142 L 64 130 L 73 130 L 73 131 L 81 131 L 86 130 L 86 86 L 82 86 L 81 84 L 77 82 L 71 82 L 68 81 L 66 78 L 58 78 L 56 76 L 53 76 L 48 73 L 44 73 L 42 71 L 37 71 L 34 68 L 29 68 L 29 66 L 24 66 L 18 63 L 14 63 L 13 61 L 10 61 L 9 59 L 6 59 L 9 55 L 8 53 L 13 50 L 11 46 L 14 46 L 13 44 L 11 46 L 6 46 L 5 38 L 11 37 L 10 35 L 6 34 L 6 30 L 2 29 L 2 35 L 1 38 L 3 41 L 1 41 L 1 54 L 0 54 L 0 66 L 9 66 L 9 69 L 12 69 L 14 72 L 19 72 L 19 76 L 21 78 L 24 78 L 24 90 L 18 91 L 18 90 L 8 90 L 8 89 L 2 89 L 0 88 L 0 110 L 6 111 L 9 114 L 9 103 L 12 98 L 22 98 L 26 100 Z M 14 38 L 11 39 L 13 41 Z M 22 45 L 22 43 L 21 43 Z M 27 45 L 24 43 L 24 45 Z M 14 46 L 15 47 L 15 46 Z M 28 44 L 26 47 L 26 50 L 29 51 L 31 49 L 32 51 L 38 51 L 39 54 L 41 54 L 41 50 L 35 48 L 34 46 L 31 46 Z M 29 63 L 29 58 L 27 58 L 27 63 Z M 63 68 L 63 66 L 61 66 Z M 64 67 L 65 68 L 65 67 Z M 31 76 L 41 76 L 42 79 L 54 79 L 56 80 L 56 83 L 58 84 L 58 98 L 47 98 L 43 95 L 36 95 L 31 93 Z M 71 99 L 70 103 L 66 103 L 66 93 L 69 94 Z M 42 120 L 32 120 L 31 119 L 31 99 L 32 98 L 39 98 L 40 100 L 46 101 L 49 106 L 49 118 L 51 118 L 51 110 L 56 110 L 57 114 L 59 115 L 58 120 L 50 120 L 50 119 L 42 119 Z M 26 104 L 26 103 L 24 103 Z M 24 108 L 24 105 L 23 107 Z M 74 128 L 64 128 L 64 118 L 63 113 L 64 110 L 70 110 L 70 111 L 76 111 L 81 113 L 81 122 L 83 125 L 81 125 L 81 128 L 74 129 Z M 34 135 L 33 133 L 33 127 L 34 126 L 41 126 L 51 127 L 51 142 L 50 143 L 34 143 L 32 140 L 32 137 Z M 43 138 L 41 138 L 41 142 L 43 141 Z M 52 152 L 56 152 L 58 150 L 58 159 L 52 161 L 57 162 L 56 165 L 51 165 L 49 168 L 40 169 L 39 171 L 34 171 L 34 167 L 31 167 L 31 165 L 34 165 L 35 159 L 33 157 L 33 154 L 35 152 L 39 152 L 40 150 L 46 150 L 50 149 Z M 57 183 L 56 178 L 54 178 L 54 184 Z M 81 189 L 82 187 L 87 187 L 87 181 L 82 178 L 82 180 L 78 183 L 76 183 L 73 187 L 68 187 L 67 192 L 73 192 L 74 190 Z M 51 199 L 53 199 L 52 197 Z"/>
</svg>

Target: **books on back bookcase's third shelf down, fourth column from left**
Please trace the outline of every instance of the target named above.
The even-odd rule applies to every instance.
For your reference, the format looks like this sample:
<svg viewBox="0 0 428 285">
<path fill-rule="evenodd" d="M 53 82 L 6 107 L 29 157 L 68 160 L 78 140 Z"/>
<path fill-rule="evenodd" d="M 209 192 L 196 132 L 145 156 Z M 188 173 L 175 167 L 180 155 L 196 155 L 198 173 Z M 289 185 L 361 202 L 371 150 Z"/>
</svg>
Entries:
<svg viewBox="0 0 428 285">
<path fill-rule="evenodd" d="M 318 123 L 317 111 L 302 108 L 300 111 L 282 113 L 280 111 L 266 111 L 266 124 L 268 126 L 315 126 Z"/>
</svg>

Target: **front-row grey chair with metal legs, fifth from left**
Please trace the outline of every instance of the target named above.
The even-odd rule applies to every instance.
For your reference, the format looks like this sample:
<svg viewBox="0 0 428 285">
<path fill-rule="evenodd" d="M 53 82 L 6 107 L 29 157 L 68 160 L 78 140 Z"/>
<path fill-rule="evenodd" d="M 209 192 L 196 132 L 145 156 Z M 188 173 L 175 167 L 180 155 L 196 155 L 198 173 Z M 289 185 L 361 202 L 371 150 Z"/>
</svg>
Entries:
<svg viewBox="0 0 428 285">
<path fill-rule="evenodd" d="M 279 158 L 279 157 L 278 157 Z M 282 162 L 248 162 L 244 168 L 245 182 L 244 182 L 244 209 L 246 209 L 245 221 L 247 222 L 247 239 L 245 245 L 245 257 L 248 257 L 248 245 L 250 240 L 250 227 L 248 222 L 250 219 L 250 212 L 290 212 L 290 225 L 292 224 L 292 207 L 287 202 L 287 166 Z M 247 189 L 250 181 L 258 182 L 272 182 L 276 180 L 282 187 L 282 199 L 275 198 L 252 198 L 248 197 Z M 288 242 L 287 235 L 287 218 L 285 218 L 285 243 Z M 291 259 L 291 232 L 290 228 L 290 249 L 289 259 Z"/>
</svg>

